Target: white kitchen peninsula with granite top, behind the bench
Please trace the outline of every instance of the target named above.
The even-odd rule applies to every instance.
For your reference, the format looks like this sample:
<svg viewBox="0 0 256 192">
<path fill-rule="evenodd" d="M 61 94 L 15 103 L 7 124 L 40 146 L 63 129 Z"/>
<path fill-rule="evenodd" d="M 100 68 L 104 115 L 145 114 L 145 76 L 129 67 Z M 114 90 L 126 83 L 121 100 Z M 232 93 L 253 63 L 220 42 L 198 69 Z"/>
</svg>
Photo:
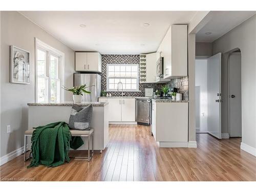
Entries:
<svg viewBox="0 0 256 192">
<path fill-rule="evenodd" d="M 57 121 L 69 122 L 73 102 L 63 103 L 28 103 L 29 129 Z M 94 128 L 94 150 L 104 150 L 109 142 L 108 102 L 81 102 L 78 106 L 93 105 L 91 127 Z M 86 142 L 84 142 L 86 143 Z M 78 150 L 85 150 L 84 144 Z"/>
</svg>

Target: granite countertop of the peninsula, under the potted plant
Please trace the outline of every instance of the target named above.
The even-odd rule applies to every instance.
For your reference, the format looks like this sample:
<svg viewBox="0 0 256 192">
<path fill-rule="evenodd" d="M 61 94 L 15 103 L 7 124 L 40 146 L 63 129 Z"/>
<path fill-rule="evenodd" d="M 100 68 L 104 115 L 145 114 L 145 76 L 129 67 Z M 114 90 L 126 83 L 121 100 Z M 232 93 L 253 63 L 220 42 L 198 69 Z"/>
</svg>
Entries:
<svg viewBox="0 0 256 192">
<path fill-rule="evenodd" d="M 75 103 L 78 106 L 88 106 L 92 104 L 93 106 L 105 106 L 109 104 L 108 102 L 81 102 Z M 28 103 L 29 106 L 73 106 L 74 102 L 62 102 L 62 103 Z"/>
</svg>

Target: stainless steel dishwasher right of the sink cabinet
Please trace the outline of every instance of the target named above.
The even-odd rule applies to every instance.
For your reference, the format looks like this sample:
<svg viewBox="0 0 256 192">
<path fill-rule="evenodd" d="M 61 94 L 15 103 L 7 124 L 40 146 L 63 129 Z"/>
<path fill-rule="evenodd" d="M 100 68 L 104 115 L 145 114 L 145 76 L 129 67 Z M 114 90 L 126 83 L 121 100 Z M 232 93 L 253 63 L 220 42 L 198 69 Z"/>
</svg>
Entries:
<svg viewBox="0 0 256 192">
<path fill-rule="evenodd" d="M 138 124 L 151 124 L 151 99 L 136 98 L 135 116 Z"/>
</svg>

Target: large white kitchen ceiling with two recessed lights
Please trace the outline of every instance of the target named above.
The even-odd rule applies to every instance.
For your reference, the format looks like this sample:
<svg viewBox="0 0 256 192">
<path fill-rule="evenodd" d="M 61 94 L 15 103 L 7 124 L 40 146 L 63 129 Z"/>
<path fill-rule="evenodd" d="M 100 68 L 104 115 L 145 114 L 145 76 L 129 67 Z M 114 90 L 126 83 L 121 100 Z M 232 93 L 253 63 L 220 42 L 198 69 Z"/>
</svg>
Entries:
<svg viewBox="0 0 256 192">
<path fill-rule="evenodd" d="M 20 11 L 74 51 L 101 54 L 155 52 L 170 25 L 188 24 L 196 12 Z"/>
</svg>

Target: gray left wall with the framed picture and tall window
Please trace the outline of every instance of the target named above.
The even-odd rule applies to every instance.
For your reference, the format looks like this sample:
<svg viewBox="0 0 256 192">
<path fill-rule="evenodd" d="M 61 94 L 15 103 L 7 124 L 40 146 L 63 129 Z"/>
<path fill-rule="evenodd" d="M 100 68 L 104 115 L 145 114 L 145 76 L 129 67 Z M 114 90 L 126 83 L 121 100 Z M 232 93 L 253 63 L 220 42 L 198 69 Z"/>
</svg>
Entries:
<svg viewBox="0 0 256 192">
<path fill-rule="evenodd" d="M 28 107 L 35 102 L 35 41 L 38 38 L 46 44 L 65 53 L 65 85 L 73 86 L 74 51 L 39 28 L 16 11 L 1 12 L 1 157 L 23 146 L 24 131 L 28 129 Z M 10 83 L 10 45 L 31 54 L 31 83 Z M 65 100 L 72 100 L 66 93 Z M 11 133 L 7 134 L 7 125 Z"/>
</svg>

